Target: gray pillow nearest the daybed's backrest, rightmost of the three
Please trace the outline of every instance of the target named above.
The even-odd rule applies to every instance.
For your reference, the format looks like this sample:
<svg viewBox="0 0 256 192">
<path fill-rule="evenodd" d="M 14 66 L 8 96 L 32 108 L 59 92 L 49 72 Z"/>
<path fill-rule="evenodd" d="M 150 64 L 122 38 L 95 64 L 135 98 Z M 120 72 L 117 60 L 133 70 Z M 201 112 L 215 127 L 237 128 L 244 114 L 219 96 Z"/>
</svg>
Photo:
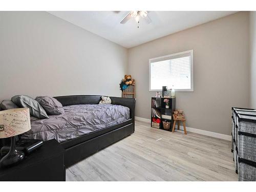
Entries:
<svg viewBox="0 0 256 192">
<path fill-rule="evenodd" d="M 38 96 L 35 100 L 37 100 L 37 102 L 46 110 L 46 113 L 50 115 L 65 114 L 62 104 L 53 97 Z"/>
</svg>

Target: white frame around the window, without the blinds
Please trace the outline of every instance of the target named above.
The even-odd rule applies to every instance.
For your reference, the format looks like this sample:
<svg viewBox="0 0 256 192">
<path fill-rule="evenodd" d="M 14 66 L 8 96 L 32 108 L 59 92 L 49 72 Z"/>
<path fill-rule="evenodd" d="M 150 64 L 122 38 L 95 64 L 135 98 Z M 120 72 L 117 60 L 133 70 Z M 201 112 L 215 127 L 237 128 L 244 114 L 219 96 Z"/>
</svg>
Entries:
<svg viewBox="0 0 256 192">
<path fill-rule="evenodd" d="M 169 55 L 164 55 L 161 57 L 156 57 L 156 58 L 152 58 L 149 59 L 149 69 L 150 69 L 150 92 L 156 92 L 156 91 L 162 91 L 162 90 L 151 90 L 151 62 L 154 60 L 159 60 L 159 59 L 164 59 L 164 58 L 168 58 L 168 57 L 173 57 L 173 56 L 179 56 L 179 55 L 183 55 L 183 54 L 188 54 L 190 53 L 190 82 L 191 82 L 191 89 L 175 89 L 176 92 L 194 92 L 194 69 L 193 69 L 193 50 L 189 50 L 189 51 L 183 51 L 180 53 L 174 53 L 174 54 L 169 54 Z M 171 88 L 168 88 L 171 89 Z"/>
</svg>

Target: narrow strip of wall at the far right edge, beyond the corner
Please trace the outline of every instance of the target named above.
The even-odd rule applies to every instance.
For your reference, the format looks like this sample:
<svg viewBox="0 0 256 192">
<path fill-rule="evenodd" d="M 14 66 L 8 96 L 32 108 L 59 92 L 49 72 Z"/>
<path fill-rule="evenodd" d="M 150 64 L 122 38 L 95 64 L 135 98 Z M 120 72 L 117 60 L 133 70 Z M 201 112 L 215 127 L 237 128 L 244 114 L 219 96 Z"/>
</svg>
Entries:
<svg viewBox="0 0 256 192">
<path fill-rule="evenodd" d="M 250 108 L 256 109 L 256 12 L 250 12 Z"/>
</svg>

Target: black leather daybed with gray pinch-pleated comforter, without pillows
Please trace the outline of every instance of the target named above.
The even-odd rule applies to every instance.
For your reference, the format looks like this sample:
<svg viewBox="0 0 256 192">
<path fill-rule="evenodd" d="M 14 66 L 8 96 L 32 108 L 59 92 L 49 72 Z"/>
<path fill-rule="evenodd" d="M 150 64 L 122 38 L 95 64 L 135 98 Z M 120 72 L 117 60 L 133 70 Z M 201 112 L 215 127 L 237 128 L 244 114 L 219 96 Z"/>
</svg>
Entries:
<svg viewBox="0 0 256 192">
<path fill-rule="evenodd" d="M 44 141 L 55 138 L 65 149 L 64 163 L 66 167 L 69 167 L 102 148 L 131 135 L 135 131 L 134 112 L 136 99 L 110 97 L 112 105 L 98 105 L 101 100 L 101 96 L 96 95 L 60 96 L 54 98 L 63 105 L 63 108 L 65 108 L 65 114 L 62 117 L 49 116 L 49 119 L 31 121 L 32 129 L 22 137 L 35 139 L 38 139 L 39 137 L 39 139 Z M 89 108 L 88 110 L 92 110 L 86 112 L 90 115 L 83 114 L 82 108 L 85 107 Z M 68 111 L 69 108 L 73 110 L 75 109 L 76 112 L 74 112 L 74 115 L 72 110 Z M 95 108 L 100 109 L 96 109 L 95 111 Z M 120 115 L 121 112 L 118 111 L 122 109 L 123 111 L 126 111 L 125 118 L 123 117 L 123 114 Z M 102 110 L 108 110 L 104 111 L 103 116 L 105 117 L 102 118 L 108 118 L 109 122 L 104 124 L 104 127 L 99 127 L 99 129 L 96 126 L 90 127 L 87 125 L 87 118 L 90 117 L 92 118 L 91 121 L 94 121 L 94 114 L 97 113 L 97 110 L 99 112 L 102 112 Z M 111 114 L 113 111 L 115 111 L 114 117 L 113 114 Z M 69 114 L 67 115 L 67 113 Z M 97 126 L 101 125 L 101 116 L 102 113 L 99 113 L 99 117 L 95 120 Z M 116 116 L 121 117 L 117 118 Z M 67 120 L 68 118 L 72 118 L 73 121 Z M 78 121 L 78 125 L 74 124 L 75 120 Z M 75 123 L 77 123 L 77 121 L 75 121 Z M 82 125 L 79 124 L 80 122 Z M 38 126 L 38 124 L 40 124 L 40 126 Z M 57 125 L 60 125 L 60 127 L 57 127 L 56 130 L 54 130 L 54 127 Z M 82 130 L 84 128 L 89 129 L 90 132 L 88 132 L 88 130 Z M 42 132 L 48 132 L 48 135 Z"/>
</svg>

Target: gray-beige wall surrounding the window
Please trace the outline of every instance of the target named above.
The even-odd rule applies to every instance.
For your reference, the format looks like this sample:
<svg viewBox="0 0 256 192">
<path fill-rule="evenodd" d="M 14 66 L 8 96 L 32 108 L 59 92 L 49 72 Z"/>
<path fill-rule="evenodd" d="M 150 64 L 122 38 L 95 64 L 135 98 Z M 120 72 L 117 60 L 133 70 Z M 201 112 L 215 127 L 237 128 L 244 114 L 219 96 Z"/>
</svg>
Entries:
<svg viewBox="0 0 256 192">
<path fill-rule="evenodd" d="M 172 25 L 172 24 L 170 24 Z M 187 126 L 230 135 L 231 106 L 249 106 L 249 13 L 239 12 L 129 49 L 136 116 L 150 119 L 148 59 L 194 50 L 194 92 L 176 94 Z"/>
</svg>

